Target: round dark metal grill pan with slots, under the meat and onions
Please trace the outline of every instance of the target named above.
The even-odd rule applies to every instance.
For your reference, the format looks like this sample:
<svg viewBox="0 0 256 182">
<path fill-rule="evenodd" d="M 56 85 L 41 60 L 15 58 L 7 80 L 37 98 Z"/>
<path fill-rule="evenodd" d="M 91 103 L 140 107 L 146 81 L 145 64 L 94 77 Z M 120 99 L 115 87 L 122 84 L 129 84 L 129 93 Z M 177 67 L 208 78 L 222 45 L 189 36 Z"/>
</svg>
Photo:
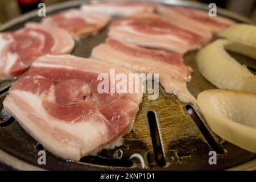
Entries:
<svg viewBox="0 0 256 182">
<path fill-rule="evenodd" d="M 188 6 L 208 10 L 208 6 L 197 2 L 160 1 L 166 6 Z M 47 6 L 47 15 L 60 10 L 78 8 L 88 1 L 71 1 Z M 252 23 L 229 11 L 218 8 L 219 15 L 237 22 Z M 13 31 L 28 21 L 38 22 L 37 11 L 19 16 L 3 24 L 0 31 Z M 73 55 L 89 57 L 93 47 L 104 42 L 108 27 L 96 36 L 88 36 L 76 42 Z M 185 64 L 194 70 L 188 90 L 197 97 L 203 90 L 215 88 L 199 73 L 192 51 L 184 55 Z M 248 65 L 256 73 L 256 64 L 247 57 L 230 53 L 238 61 Z M 0 110 L 7 90 L 13 80 L 0 83 Z M 86 156 L 80 162 L 57 158 L 46 151 L 19 126 L 13 117 L 0 113 L 0 167 L 3 169 L 51 169 L 51 170 L 220 170 L 256 169 L 256 154 L 243 150 L 214 134 L 204 121 L 203 115 L 159 88 L 159 98 L 148 100 L 147 94 L 135 118 L 134 129 L 123 137 L 123 145 L 114 150 L 103 150 L 98 156 Z M 189 113 L 188 113 L 189 110 Z M 46 151 L 46 165 L 38 164 L 38 152 Z M 217 165 L 208 163 L 209 151 L 217 152 Z M 132 156 L 132 157 L 131 157 Z"/>
</svg>

